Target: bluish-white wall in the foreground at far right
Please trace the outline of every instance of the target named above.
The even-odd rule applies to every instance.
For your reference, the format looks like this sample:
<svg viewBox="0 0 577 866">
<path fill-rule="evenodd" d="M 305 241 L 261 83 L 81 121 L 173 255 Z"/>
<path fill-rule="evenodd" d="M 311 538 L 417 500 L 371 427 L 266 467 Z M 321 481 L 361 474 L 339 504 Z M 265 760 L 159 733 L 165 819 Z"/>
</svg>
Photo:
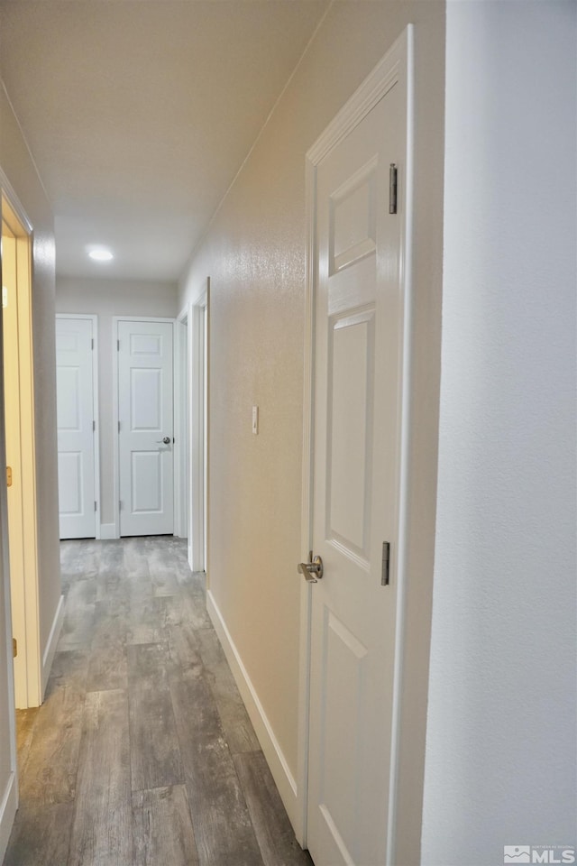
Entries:
<svg viewBox="0 0 577 866">
<path fill-rule="evenodd" d="M 422 862 L 575 844 L 572 3 L 449 3 Z"/>
</svg>

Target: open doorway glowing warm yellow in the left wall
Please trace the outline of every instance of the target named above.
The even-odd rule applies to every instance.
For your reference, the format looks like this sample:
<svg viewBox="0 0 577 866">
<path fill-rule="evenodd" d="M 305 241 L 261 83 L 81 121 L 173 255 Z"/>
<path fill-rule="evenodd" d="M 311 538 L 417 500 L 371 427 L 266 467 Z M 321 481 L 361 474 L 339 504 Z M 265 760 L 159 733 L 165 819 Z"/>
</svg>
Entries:
<svg viewBox="0 0 577 866">
<path fill-rule="evenodd" d="M 8 539 L 19 709 L 42 700 L 32 355 L 32 226 L 2 194 L 2 307 Z"/>
</svg>

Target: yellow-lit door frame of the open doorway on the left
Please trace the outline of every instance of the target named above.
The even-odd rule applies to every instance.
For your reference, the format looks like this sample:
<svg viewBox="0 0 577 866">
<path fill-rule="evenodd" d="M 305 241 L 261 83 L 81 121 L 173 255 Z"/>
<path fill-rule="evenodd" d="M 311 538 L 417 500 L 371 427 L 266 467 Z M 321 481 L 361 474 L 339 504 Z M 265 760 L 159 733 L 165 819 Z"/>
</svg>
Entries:
<svg viewBox="0 0 577 866">
<path fill-rule="evenodd" d="M 23 599 L 25 634 L 18 653 L 23 657 L 25 682 L 15 683 L 26 706 L 42 703 L 42 658 L 40 640 L 40 598 L 38 585 L 38 511 L 36 501 L 36 428 L 34 411 L 34 353 L 32 335 L 32 239 L 33 226 L 0 169 L 0 211 L 16 238 L 18 267 L 18 360 L 20 366 L 20 469 L 22 484 L 21 532 L 23 573 L 12 569 L 11 596 Z M 13 515 L 14 519 L 14 515 Z M 14 604 L 11 603 L 11 616 Z M 14 666 L 12 666 L 14 668 Z"/>
</svg>

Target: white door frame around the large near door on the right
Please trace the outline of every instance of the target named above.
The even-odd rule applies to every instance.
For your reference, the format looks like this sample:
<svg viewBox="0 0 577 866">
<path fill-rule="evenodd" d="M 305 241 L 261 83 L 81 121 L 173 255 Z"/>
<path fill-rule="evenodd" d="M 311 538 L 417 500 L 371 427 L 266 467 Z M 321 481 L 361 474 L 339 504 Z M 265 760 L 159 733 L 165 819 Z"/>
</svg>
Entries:
<svg viewBox="0 0 577 866">
<path fill-rule="evenodd" d="M 317 166 L 346 135 L 361 123 L 391 84 L 404 75 L 407 80 L 407 174 L 405 183 L 406 217 L 401 226 L 401 280 L 405 292 L 405 320 L 403 340 L 403 391 L 401 410 L 401 455 L 398 525 L 398 597 L 396 611 L 395 673 L 392 706 L 392 734 L 390 743 L 389 815 L 387 834 L 387 863 L 395 862 L 395 837 L 398 826 L 398 735 L 401 711 L 401 689 L 403 683 L 403 648 L 405 645 L 405 607 L 407 583 L 407 516 L 408 516 L 408 433 L 410 379 L 410 334 L 411 334 L 411 283 L 412 283 L 412 217 L 413 217 L 413 25 L 408 27 L 390 47 L 389 51 L 364 80 L 353 96 L 335 115 L 307 151 L 306 155 L 306 208 L 307 208 L 307 275 L 305 314 L 305 376 L 303 399 L 303 476 L 301 504 L 301 561 L 306 562 L 312 549 L 313 518 L 313 418 L 315 375 L 315 325 L 316 325 L 316 172 Z M 297 805 L 294 826 L 298 841 L 307 845 L 307 794 L 308 794 L 308 721 L 310 714 L 310 664 L 311 664 L 311 611 L 312 590 L 301 579 L 300 585 L 300 635 L 299 635 L 299 686 L 298 686 L 298 775 Z"/>
</svg>

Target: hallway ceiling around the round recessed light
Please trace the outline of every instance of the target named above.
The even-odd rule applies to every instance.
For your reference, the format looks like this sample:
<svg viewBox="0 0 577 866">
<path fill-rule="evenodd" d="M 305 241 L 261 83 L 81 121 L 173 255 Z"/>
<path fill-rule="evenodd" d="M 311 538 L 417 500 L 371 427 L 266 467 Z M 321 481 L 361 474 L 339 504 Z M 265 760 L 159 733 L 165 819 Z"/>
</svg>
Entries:
<svg viewBox="0 0 577 866">
<path fill-rule="evenodd" d="M 327 5 L 2 0 L 0 69 L 54 211 L 57 273 L 177 280 Z"/>
</svg>

